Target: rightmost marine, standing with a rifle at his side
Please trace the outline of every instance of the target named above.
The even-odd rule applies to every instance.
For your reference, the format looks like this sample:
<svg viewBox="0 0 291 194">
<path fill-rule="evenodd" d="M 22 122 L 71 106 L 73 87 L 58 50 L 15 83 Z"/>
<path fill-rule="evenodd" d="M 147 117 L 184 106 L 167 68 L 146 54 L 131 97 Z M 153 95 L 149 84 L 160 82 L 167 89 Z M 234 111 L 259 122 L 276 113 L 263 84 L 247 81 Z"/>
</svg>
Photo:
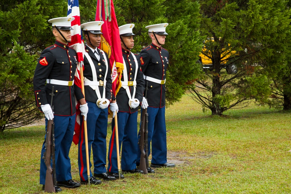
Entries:
<svg viewBox="0 0 291 194">
<path fill-rule="evenodd" d="M 174 167 L 167 163 L 166 121 L 165 121 L 165 82 L 169 65 L 169 53 L 162 48 L 165 44 L 166 26 L 168 24 L 154 24 L 146 26 L 152 44 L 144 48 L 139 54 L 141 70 L 145 82 L 148 82 L 148 155 L 152 141 L 151 167 Z M 140 155 L 140 150 L 139 150 Z M 137 163 L 140 162 L 139 157 Z"/>
</svg>

